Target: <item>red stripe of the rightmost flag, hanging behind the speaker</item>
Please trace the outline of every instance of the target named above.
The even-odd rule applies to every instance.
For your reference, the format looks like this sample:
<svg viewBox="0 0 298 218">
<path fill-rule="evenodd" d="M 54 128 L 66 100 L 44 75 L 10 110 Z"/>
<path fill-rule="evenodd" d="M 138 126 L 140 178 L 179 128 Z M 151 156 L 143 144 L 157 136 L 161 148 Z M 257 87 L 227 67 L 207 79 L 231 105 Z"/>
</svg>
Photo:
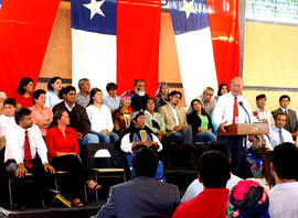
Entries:
<svg viewBox="0 0 298 218">
<path fill-rule="evenodd" d="M 238 0 L 206 0 L 219 85 L 240 76 Z"/>
</svg>

